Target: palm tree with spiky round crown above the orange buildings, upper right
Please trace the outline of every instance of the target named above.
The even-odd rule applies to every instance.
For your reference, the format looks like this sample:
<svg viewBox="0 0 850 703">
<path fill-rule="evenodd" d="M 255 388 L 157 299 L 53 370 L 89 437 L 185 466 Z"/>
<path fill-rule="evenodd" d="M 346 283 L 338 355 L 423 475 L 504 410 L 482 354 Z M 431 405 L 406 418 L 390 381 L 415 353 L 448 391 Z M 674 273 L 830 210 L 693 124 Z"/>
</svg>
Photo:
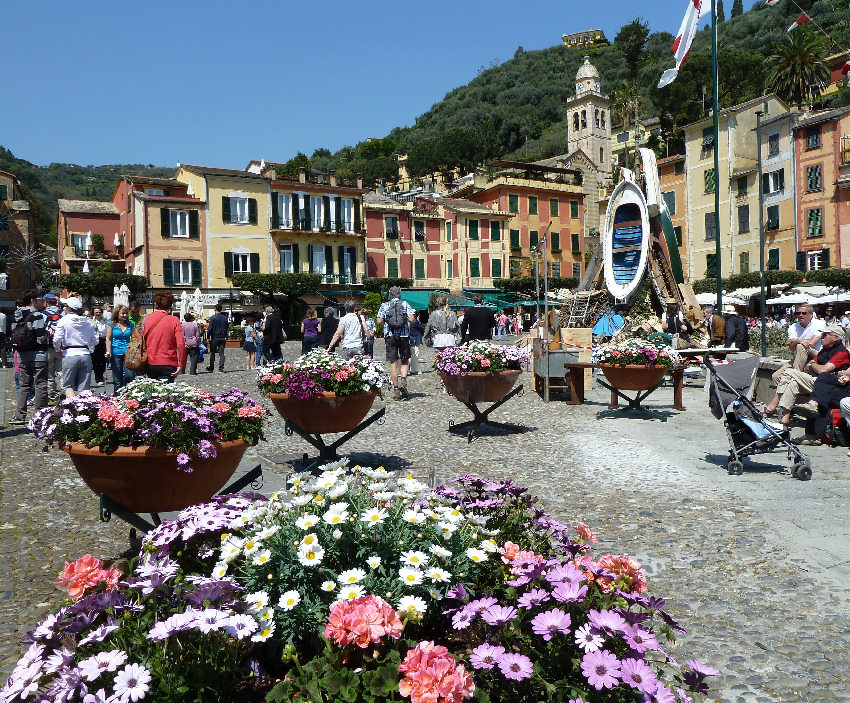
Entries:
<svg viewBox="0 0 850 703">
<path fill-rule="evenodd" d="M 825 49 L 820 35 L 806 28 L 786 35 L 767 57 L 767 65 L 772 67 L 767 89 L 797 107 L 817 100 L 830 81 L 829 67 L 822 58 Z"/>
</svg>

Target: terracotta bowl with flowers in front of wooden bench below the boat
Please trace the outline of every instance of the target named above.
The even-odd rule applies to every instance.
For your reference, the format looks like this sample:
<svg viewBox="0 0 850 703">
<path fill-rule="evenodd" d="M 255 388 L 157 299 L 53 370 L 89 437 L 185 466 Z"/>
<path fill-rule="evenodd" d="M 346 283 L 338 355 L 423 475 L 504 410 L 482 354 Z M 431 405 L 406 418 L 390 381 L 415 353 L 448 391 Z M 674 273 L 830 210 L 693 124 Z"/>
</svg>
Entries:
<svg viewBox="0 0 850 703">
<path fill-rule="evenodd" d="M 595 346 L 591 359 L 599 364 L 614 388 L 646 391 L 655 386 L 679 356 L 670 347 L 659 347 L 645 339 L 628 339 Z"/>
</svg>

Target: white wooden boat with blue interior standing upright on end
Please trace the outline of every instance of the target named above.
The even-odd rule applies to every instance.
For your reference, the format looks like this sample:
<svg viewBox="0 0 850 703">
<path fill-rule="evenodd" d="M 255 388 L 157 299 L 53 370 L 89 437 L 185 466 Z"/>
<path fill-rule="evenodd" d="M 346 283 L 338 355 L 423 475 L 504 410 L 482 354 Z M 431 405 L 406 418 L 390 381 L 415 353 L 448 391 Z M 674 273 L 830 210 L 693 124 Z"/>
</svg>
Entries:
<svg viewBox="0 0 850 703">
<path fill-rule="evenodd" d="M 643 191 L 630 172 L 624 173 L 605 213 L 603 271 L 611 295 L 617 301 L 630 303 L 646 275 L 652 235 Z"/>
</svg>

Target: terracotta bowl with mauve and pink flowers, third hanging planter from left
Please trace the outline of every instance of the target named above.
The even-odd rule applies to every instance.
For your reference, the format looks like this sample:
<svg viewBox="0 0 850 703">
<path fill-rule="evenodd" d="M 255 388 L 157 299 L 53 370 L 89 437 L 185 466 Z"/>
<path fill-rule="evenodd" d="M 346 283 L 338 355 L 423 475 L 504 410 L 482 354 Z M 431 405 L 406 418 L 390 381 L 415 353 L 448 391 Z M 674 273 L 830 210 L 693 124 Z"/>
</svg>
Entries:
<svg viewBox="0 0 850 703">
<path fill-rule="evenodd" d="M 505 397 L 528 361 L 528 352 L 519 347 L 476 341 L 444 349 L 436 355 L 434 368 L 458 400 L 487 403 Z"/>
</svg>

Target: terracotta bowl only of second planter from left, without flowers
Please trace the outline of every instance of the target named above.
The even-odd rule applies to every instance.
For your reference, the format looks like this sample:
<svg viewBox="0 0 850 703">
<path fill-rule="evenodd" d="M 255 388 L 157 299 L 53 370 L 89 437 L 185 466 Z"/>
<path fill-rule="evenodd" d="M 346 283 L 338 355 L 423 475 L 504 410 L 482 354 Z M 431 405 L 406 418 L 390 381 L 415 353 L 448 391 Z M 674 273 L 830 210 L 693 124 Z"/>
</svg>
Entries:
<svg viewBox="0 0 850 703">
<path fill-rule="evenodd" d="M 353 430 L 375 402 L 377 393 L 363 391 L 356 395 L 337 396 L 323 393 L 315 398 L 291 398 L 286 393 L 269 393 L 281 417 L 295 423 L 310 434 L 330 434 Z"/>
</svg>

